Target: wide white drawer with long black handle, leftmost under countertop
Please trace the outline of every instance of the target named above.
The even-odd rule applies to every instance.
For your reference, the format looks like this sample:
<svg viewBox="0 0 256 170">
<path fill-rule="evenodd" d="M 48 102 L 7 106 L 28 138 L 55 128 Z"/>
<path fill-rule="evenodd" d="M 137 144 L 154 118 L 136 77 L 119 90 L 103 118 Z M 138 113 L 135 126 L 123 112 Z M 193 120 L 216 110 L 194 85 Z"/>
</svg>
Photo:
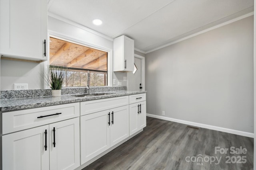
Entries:
<svg viewBox="0 0 256 170">
<path fill-rule="evenodd" d="M 79 103 L 72 103 L 2 113 L 3 135 L 78 117 L 79 106 Z"/>
</svg>

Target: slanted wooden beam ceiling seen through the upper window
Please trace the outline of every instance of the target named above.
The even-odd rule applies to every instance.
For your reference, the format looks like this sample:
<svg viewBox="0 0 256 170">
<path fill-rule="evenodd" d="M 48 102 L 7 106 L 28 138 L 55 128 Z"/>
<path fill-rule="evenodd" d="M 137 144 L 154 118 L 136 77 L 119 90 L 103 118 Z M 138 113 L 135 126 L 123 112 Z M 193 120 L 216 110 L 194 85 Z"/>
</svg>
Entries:
<svg viewBox="0 0 256 170">
<path fill-rule="evenodd" d="M 107 52 L 50 37 L 50 64 L 107 71 Z"/>
</svg>

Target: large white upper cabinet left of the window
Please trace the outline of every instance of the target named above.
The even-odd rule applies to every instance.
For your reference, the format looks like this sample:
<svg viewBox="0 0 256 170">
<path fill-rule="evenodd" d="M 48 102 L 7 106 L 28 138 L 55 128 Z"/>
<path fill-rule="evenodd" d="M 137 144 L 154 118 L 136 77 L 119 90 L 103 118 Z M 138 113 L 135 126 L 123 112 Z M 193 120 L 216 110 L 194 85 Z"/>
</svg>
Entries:
<svg viewBox="0 0 256 170">
<path fill-rule="evenodd" d="M 47 0 L 0 0 L 0 53 L 47 60 Z"/>
</svg>

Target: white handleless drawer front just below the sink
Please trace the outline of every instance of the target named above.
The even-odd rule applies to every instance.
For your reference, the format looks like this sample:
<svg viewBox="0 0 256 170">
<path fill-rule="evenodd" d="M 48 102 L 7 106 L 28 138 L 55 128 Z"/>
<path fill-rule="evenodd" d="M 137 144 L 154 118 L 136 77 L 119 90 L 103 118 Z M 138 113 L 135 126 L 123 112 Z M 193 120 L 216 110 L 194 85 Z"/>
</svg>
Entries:
<svg viewBox="0 0 256 170">
<path fill-rule="evenodd" d="M 81 116 L 129 104 L 128 96 L 92 100 L 80 103 Z"/>
</svg>

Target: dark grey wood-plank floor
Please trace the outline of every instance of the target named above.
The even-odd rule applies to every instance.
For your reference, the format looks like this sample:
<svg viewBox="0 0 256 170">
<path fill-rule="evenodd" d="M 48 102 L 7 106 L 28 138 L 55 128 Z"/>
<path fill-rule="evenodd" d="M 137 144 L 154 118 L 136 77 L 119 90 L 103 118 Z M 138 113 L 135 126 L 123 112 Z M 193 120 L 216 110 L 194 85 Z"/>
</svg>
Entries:
<svg viewBox="0 0 256 170">
<path fill-rule="evenodd" d="M 215 153 L 215 147 L 221 152 Z M 233 153 L 230 147 L 236 150 L 242 147 L 247 152 Z M 228 151 L 223 153 L 226 148 Z M 252 138 L 147 117 L 147 127 L 142 133 L 83 170 L 252 169 Z"/>
</svg>

